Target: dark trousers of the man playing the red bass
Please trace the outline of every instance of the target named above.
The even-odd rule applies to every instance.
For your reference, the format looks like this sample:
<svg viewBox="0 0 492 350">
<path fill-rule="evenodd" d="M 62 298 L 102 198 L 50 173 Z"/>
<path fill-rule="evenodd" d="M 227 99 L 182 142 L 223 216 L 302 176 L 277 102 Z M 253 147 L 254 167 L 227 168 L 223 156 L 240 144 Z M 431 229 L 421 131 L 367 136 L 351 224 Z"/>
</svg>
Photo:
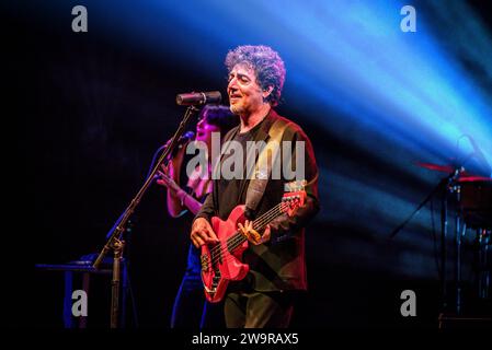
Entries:
<svg viewBox="0 0 492 350">
<path fill-rule="evenodd" d="M 225 300 L 228 328 L 286 328 L 294 311 L 290 292 L 229 292 Z"/>
</svg>

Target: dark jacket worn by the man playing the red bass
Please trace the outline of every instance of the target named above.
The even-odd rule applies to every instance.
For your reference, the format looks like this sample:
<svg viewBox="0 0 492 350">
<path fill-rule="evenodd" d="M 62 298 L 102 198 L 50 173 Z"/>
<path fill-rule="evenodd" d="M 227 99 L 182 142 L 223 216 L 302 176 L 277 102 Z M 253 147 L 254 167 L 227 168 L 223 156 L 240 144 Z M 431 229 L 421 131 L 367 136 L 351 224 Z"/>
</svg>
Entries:
<svg viewBox="0 0 492 350">
<path fill-rule="evenodd" d="M 305 258 L 305 226 L 319 211 L 318 202 L 318 167 L 316 165 L 312 144 L 302 129 L 293 121 L 278 116 L 273 109 L 266 118 L 250 132 L 238 137 L 239 127 L 232 129 L 225 137 L 225 141 L 236 139 L 247 142 L 249 138 L 254 141 L 266 140 L 275 120 L 288 124 L 282 141 L 295 144 L 297 141 L 306 143 L 306 202 L 291 215 L 282 214 L 270 223 L 272 237 L 260 245 L 249 245 L 243 254 L 243 262 L 250 267 L 250 273 L 243 280 L 249 288 L 256 291 L 306 290 L 306 258 Z M 227 152 L 226 152 L 227 153 Z M 295 153 L 293 153 L 293 156 Z M 224 165 L 224 159 L 221 160 Z M 293 161 L 293 164 L 295 162 Z M 224 172 L 222 172 L 224 174 Z M 281 200 L 284 185 L 288 183 L 284 176 L 281 179 L 270 178 L 264 195 L 258 205 L 255 215 L 260 217 Z M 196 218 L 210 221 L 213 217 L 227 220 L 230 211 L 238 205 L 245 203 L 249 179 L 218 179 L 214 182 L 214 191 L 207 197 Z M 221 183 L 221 184 L 219 184 Z M 224 192 L 225 191 L 225 192 Z"/>
</svg>

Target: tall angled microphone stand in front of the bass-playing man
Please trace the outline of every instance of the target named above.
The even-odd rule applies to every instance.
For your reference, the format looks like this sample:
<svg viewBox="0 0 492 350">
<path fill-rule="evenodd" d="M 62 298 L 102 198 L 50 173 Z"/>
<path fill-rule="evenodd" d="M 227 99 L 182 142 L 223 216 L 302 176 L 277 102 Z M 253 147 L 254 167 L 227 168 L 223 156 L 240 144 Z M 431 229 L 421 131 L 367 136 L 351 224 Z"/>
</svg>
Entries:
<svg viewBox="0 0 492 350">
<path fill-rule="evenodd" d="M 195 106 L 188 106 L 186 108 L 186 112 L 184 114 L 183 119 L 180 122 L 180 126 L 178 127 L 178 130 L 174 132 L 174 136 L 171 139 L 171 142 L 169 145 L 164 149 L 161 156 L 156 163 L 156 166 L 152 168 L 152 171 L 147 176 L 146 182 L 144 183 L 144 186 L 140 188 L 140 190 L 137 192 L 137 195 L 131 199 L 128 207 L 125 209 L 123 214 L 118 218 L 118 220 L 115 222 L 108 234 L 106 235 L 107 241 L 104 247 L 102 248 L 101 253 L 99 254 L 98 258 L 95 259 L 92 267 L 94 269 L 99 269 L 104 256 L 107 255 L 110 250 L 113 250 L 114 258 L 113 258 L 113 279 L 112 279 L 112 292 L 111 292 L 111 328 L 117 328 L 118 327 L 118 314 L 119 314 L 119 277 L 121 277 L 121 264 L 122 264 L 122 257 L 123 257 L 123 249 L 125 248 L 125 241 L 123 241 L 123 233 L 125 231 L 125 225 L 127 224 L 129 218 L 135 212 L 135 209 L 139 205 L 141 198 L 146 194 L 147 189 L 150 187 L 150 185 L 153 182 L 153 177 L 156 173 L 159 171 L 159 167 L 163 163 L 163 161 L 168 158 L 168 155 L 174 150 L 174 148 L 178 144 L 178 141 L 180 137 L 184 133 L 184 130 L 186 128 L 186 125 L 190 120 L 190 118 L 199 109 Z"/>
</svg>

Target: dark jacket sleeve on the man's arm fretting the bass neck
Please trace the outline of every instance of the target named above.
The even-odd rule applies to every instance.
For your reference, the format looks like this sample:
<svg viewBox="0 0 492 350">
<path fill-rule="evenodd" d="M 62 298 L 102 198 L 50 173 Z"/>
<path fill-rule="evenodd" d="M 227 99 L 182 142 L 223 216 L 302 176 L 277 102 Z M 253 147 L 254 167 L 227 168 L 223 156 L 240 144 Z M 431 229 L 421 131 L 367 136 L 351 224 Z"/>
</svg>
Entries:
<svg viewBox="0 0 492 350">
<path fill-rule="evenodd" d="M 283 140 L 291 142 L 291 168 L 296 170 L 296 141 L 304 141 L 305 152 L 304 162 L 299 162 L 300 166 L 305 166 L 305 178 L 296 178 L 296 180 L 306 180 L 306 201 L 302 207 L 299 207 L 291 217 L 282 214 L 270 223 L 272 229 L 272 243 L 285 241 L 293 235 L 297 234 L 302 228 L 305 228 L 309 221 L 320 210 L 318 199 L 318 167 L 316 164 L 314 152 L 311 141 L 306 133 L 297 127 L 296 129 L 286 130 L 286 135 Z M 282 158 L 284 161 L 284 158 Z M 285 180 L 288 183 L 289 180 Z"/>
</svg>

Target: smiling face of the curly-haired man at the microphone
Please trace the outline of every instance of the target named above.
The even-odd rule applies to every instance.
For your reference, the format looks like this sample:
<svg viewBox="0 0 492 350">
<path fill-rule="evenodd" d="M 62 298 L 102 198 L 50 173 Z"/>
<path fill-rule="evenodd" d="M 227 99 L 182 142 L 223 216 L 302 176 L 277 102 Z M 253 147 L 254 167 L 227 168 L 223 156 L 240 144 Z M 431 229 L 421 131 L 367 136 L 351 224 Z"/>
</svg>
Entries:
<svg viewBox="0 0 492 350">
<path fill-rule="evenodd" d="M 229 73 L 227 94 L 230 110 L 240 116 L 250 115 L 263 105 L 264 92 L 256 82 L 254 70 L 244 63 L 236 65 Z"/>
</svg>

